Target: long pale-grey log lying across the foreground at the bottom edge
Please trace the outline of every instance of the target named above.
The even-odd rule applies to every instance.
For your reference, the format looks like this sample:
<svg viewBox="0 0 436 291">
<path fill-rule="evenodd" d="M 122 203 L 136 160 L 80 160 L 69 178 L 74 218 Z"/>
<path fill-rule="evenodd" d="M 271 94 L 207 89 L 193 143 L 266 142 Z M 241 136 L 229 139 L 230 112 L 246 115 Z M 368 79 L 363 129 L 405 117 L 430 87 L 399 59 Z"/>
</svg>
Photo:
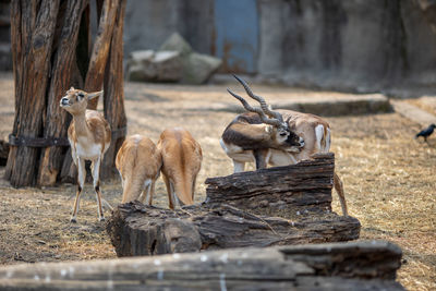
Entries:
<svg viewBox="0 0 436 291">
<path fill-rule="evenodd" d="M 388 242 L 0 267 L 2 290 L 403 290 Z"/>
</svg>

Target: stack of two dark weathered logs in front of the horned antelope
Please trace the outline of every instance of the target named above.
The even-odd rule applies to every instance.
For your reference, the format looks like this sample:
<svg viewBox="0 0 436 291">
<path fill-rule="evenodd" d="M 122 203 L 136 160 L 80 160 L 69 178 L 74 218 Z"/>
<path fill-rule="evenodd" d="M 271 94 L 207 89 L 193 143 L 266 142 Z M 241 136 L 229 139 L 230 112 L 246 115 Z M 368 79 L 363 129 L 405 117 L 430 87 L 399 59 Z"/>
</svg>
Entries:
<svg viewBox="0 0 436 291">
<path fill-rule="evenodd" d="M 207 179 L 205 203 L 175 211 L 120 205 L 107 231 L 118 256 L 355 240 L 359 220 L 331 213 L 334 160 Z"/>
</svg>

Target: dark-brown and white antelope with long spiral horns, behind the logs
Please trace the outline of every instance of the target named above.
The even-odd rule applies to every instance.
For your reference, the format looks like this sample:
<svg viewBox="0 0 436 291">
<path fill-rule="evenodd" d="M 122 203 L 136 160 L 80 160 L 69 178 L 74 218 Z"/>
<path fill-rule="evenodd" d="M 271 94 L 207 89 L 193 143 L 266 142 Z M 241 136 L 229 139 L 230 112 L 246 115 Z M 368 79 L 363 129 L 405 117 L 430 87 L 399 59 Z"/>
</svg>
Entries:
<svg viewBox="0 0 436 291">
<path fill-rule="evenodd" d="M 255 161 L 256 169 L 266 168 L 267 165 L 287 166 L 307 159 L 314 154 L 330 150 L 330 126 L 325 120 L 310 113 L 272 110 L 263 97 L 253 94 L 243 80 L 234 77 L 242 84 L 246 94 L 261 105 L 261 108 L 251 107 L 241 96 L 228 89 L 247 111 L 251 111 L 238 116 L 227 126 L 220 140 L 221 147 L 233 160 L 234 172 L 244 171 L 245 162 Z M 295 143 L 293 147 L 289 147 L 289 144 L 288 146 L 278 146 L 272 142 L 277 141 L 277 134 L 272 134 L 272 130 L 267 130 L 267 124 L 271 123 L 267 122 L 268 119 L 265 116 L 278 120 L 280 123 L 284 120 L 286 125 L 282 128 L 287 126 L 287 130 L 292 133 L 289 136 L 300 136 L 300 141 L 304 142 L 301 142 L 300 146 L 295 146 Z M 259 124 L 261 120 L 266 124 Z M 277 128 L 277 125 L 275 126 Z M 296 138 L 293 137 L 293 141 L 295 142 Z M 348 216 L 343 185 L 336 172 L 334 173 L 334 186 L 339 196 L 342 214 Z"/>
</svg>

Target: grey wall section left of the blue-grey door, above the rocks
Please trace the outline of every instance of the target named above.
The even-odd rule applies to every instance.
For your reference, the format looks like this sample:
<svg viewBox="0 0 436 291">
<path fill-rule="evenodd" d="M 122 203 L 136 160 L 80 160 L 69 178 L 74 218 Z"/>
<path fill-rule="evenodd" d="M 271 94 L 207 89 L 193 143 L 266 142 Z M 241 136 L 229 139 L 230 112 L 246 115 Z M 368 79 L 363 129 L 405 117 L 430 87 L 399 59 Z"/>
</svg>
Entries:
<svg viewBox="0 0 436 291">
<path fill-rule="evenodd" d="M 210 53 L 214 0 L 129 0 L 124 53 L 157 49 L 174 32 L 202 53 Z"/>
</svg>

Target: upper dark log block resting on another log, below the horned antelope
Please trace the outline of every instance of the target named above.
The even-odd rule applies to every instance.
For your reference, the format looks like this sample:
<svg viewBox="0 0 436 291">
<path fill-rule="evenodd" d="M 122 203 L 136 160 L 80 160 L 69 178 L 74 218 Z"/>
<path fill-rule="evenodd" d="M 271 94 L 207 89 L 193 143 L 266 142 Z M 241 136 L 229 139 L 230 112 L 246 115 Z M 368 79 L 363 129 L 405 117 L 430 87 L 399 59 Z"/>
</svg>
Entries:
<svg viewBox="0 0 436 291">
<path fill-rule="evenodd" d="M 292 166 L 208 178 L 206 202 L 282 217 L 331 210 L 334 171 L 335 155 L 328 153 Z"/>
</svg>

